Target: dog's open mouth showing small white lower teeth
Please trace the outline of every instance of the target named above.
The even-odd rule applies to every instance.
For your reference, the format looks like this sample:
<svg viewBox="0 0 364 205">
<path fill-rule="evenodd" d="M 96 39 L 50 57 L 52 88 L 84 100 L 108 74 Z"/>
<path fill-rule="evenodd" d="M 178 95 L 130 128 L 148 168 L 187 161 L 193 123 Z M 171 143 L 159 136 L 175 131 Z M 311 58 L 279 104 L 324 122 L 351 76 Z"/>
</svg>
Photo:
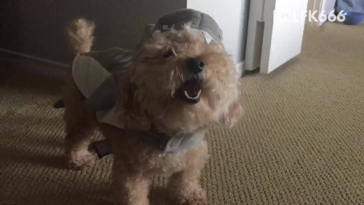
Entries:
<svg viewBox="0 0 364 205">
<path fill-rule="evenodd" d="M 186 81 L 178 89 L 179 96 L 186 102 L 195 104 L 200 101 L 201 82 L 200 80 L 191 79 Z"/>
</svg>

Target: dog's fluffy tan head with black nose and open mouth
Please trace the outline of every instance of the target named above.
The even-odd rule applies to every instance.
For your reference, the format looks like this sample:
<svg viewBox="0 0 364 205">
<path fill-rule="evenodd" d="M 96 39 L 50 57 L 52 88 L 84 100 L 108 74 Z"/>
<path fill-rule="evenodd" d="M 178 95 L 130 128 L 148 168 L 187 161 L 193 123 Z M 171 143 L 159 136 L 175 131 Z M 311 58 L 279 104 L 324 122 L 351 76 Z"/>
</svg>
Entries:
<svg viewBox="0 0 364 205">
<path fill-rule="evenodd" d="M 241 115 L 238 73 L 230 56 L 189 27 L 155 32 L 121 77 L 118 111 L 126 128 L 151 126 L 191 133 L 211 123 L 234 125 Z"/>
</svg>

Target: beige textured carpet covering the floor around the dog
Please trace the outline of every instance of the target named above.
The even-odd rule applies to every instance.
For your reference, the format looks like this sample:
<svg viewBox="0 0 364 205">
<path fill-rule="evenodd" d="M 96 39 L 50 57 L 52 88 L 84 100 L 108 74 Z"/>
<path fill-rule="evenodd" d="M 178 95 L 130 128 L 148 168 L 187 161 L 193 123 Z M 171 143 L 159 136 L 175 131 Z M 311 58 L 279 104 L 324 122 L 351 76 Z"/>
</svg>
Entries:
<svg viewBox="0 0 364 205">
<path fill-rule="evenodd" d="M 243 78 L 244 119 L 208 135 L 209 205 L 364 204 L 363 34 L 363 24 L 308 27 L 299 57 Z M 60 80 L 39 70 L 0 70 L 0 204 L 111 204 L 110 156 L 65 167 L 62 110 L 52 109 Z M 165 204 L 165 183 L 155 178 L 153 205 Z"/>
</svg>

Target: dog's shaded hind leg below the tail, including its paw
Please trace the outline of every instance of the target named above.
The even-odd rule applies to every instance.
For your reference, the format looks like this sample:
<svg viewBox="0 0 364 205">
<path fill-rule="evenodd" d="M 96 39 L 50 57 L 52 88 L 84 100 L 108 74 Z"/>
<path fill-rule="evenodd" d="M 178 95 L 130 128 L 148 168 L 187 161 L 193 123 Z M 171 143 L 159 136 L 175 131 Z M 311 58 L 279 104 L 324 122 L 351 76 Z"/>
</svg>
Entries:
<svg viewBox="0 0 364 205">
<path fill-rule="evenodd" d="M 66 154 L 71 168 L 83 169 L 95 162 L 88 151 L 92 135 L 98 126 L 95 113 L 87 110 L 83 96 L 71 80 L 64 87 L 64 121 L 66 123 Z"/>
</svg>

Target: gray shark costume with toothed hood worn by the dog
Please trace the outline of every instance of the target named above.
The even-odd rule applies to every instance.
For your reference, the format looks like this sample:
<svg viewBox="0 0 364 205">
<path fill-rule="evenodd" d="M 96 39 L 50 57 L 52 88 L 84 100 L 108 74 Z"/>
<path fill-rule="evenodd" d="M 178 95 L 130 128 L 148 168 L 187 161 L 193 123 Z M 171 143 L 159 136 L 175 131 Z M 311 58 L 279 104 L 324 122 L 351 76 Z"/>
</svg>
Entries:
<svg viewBox="0 0 364 205">
<path fill-rule="evenodd" d="M 180 9 L 162 16 L 157 24 L 145 27 L 144 35 L 138 46 L 151 38 L 154 31 L 165 32 L 171 28 L 180 30 L 191 23 L 192 32 L 203 35 L 207 43 L 212 40 L 222 44 L 222 31 L 211 16 L 194 9 Z M 132 51 L 111 48 L 76 55 L 72 62 L 72 75 L 79 90 L 85 96 L 84 104 L 96 111 L 100 123 L 123 128 L 116 116 L 118 82 L 116 76 L 122 75 L 132 64 Z M 180 136 L 168 136 L 155 130 L 140 133 L 143 140 L 166 154 L 197 147 L 204 139 L 205 132 Z M 99 158 L 111 153 L 108 140 L 94 143 Z"/>
</svg>

